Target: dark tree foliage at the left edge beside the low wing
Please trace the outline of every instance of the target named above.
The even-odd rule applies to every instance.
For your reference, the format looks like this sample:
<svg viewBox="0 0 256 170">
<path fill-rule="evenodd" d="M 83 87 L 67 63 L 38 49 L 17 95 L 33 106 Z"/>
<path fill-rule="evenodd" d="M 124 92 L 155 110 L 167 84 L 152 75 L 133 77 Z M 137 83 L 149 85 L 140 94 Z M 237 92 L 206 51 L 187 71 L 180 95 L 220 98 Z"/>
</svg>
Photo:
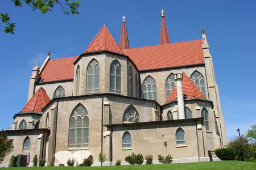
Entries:
<svg viewBox="0 0 256 170">
<path fill-rule="evenodd" d="M 8 139 L 5 131 L 0 131 L 0 163 L 13 151 L 13 139 Z"/>
</svg>

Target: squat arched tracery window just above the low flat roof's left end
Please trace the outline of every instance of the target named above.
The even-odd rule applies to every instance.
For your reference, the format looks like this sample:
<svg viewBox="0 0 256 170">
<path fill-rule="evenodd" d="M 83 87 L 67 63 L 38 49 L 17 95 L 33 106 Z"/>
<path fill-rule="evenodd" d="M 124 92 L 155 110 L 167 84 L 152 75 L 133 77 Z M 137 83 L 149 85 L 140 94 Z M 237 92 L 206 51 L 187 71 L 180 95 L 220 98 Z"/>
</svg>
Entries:
<svg viewBox="0 0 256 170">
<path fill-rule="evenodd" d="M 139 113 L 132 105 L 125 109 L 122 122 L 139 122 Z"/>
</svg>

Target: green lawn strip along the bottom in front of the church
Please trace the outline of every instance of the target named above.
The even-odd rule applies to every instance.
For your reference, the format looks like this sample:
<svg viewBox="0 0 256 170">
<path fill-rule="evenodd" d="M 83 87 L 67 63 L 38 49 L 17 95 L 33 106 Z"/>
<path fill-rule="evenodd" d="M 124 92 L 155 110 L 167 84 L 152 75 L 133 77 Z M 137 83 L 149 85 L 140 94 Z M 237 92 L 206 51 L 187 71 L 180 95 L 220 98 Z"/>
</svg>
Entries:
<svg viewBox="0 0 256 170">
<path fill-rule="evenodd" d="M 256 169 L 256 163 L 226 160 L 220 162 L 201 162 L 183 164 L 158 164 L 158 165 L 123 165 L 112 167 L 19 167 L 7 169 Z"/>
</svg>

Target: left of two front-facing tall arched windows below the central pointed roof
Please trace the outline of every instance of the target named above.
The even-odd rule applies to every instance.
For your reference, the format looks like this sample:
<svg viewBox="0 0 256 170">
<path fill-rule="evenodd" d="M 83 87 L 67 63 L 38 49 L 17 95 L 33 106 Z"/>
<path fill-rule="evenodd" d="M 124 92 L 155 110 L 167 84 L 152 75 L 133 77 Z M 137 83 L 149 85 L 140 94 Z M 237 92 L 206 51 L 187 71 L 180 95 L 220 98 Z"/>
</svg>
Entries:
<svg viewBox="0 0 256 170">
<path fill-rule="evenodd" d="M 87 67 L 86 92 L 98 92 L 100 84 L 100 65 L 93 59 Z"/>
</svg>

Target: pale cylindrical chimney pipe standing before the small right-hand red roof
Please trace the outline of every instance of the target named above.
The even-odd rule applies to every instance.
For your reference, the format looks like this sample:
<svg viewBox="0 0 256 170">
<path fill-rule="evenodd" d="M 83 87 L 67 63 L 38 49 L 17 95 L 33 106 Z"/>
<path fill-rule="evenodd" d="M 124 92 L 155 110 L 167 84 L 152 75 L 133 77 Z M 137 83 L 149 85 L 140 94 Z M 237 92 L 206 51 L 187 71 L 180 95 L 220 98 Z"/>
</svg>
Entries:
<svg viewBox="0 0 256 170">
<path fill-rule="evenodd" d="M 177 104 L 179 108 L 179 119 L 185 118 L 184 111 L 184 99 L 183 99 L 183 90 L 182 90 L 182 74 L 175 74 L 176 88 L 177 88 Z"/>
</svg>

